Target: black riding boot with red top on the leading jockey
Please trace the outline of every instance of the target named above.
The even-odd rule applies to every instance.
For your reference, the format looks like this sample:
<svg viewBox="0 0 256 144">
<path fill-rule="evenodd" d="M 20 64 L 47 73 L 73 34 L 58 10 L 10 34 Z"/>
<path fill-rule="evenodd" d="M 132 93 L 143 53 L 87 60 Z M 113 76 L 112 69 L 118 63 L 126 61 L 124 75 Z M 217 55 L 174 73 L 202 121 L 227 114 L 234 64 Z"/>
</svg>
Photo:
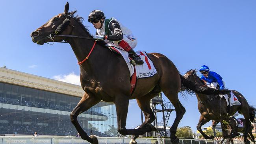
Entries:
<svg viewBox="0 0 256 144">
<path fill-rule="evenodd" d="M 139 55 L 137 55 L 134 50 L 132 50 L 131 46 L 124 40 L 118 42 L 119 46 L 121 46 L 126 52 L 128 52 L 129 57 L 132 58 L 132 60 L 130 61 L 130 63 L 132 65 L 142 65 L 144 62 L 143 60 L 141 60 L 141 57 L 139 57 Z"/>
</svg>

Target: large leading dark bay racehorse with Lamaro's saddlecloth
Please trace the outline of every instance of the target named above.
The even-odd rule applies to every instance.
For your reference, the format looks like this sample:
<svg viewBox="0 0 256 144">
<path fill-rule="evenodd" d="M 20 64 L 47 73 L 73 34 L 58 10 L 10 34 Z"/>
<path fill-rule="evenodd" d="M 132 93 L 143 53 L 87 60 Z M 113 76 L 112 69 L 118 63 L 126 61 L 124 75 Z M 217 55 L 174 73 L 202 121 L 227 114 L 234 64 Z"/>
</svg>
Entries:
<svg viewBox="0 0 256 144">
<path fill-rule="evenodd" d="M 78 123 L 77 116 L 90 107 L 100 102 L 113 102 L 117 111 L 118 131 L 122 135 L 134 135 L 130 143 L 136 143 L 135 139 L 146 132 L 156 131 L 151 125 L 155 116 L 150 108 L 149 100 L 156 94 L 163 91 L 165 96 L 175 107 L 176 118 L 170 129 L 171 141 L 178 144 L 175 136 L 177 126 L 185 113 L 185 108 L 178 99 L 178 92 L 181 85 L 187 90 L 193 90 L 204 94 L 220 94 L 223 91 L 214 89 L 202 89 L 193 82 L 181 76 L 176 66 L 164 55 L 150 53 L 148 56 L 154 63 L 157 74 L 150 78 L 138 79 L 133 94 L 130 94 L 130 72 L 124 59 L 111 52 L 102 42 L 95 42 L 92 35 L 83 26 L 81 17 L 74 17 L 69 11 L 69 4 L 65 6 L 64 13 L 60 13 L 43 26 L 31 33 L 32 41 L 43 45 L 50 41 L 66 41 L 72 47 L 74 54 L 80 63 L 80 81 L 85 91 L 82 99 L 70 114 L 72 124 L 80 133 L 82 139 L 91 143 L 98 143 L 95 136 L 88 136 Z M 57 35 L 57 34 L 61 35 Z M 89 52 L 91 52 L 88 58 Z M 85 57 L 87 57 L 85 59 Z M 223 92 L 224 93 L 224 92 Z M 145 122 L 138 129 L 126 129 L 126 116 L 130 99 L 137 100 L 137 103 L 145 114 Z"/>
</svg>

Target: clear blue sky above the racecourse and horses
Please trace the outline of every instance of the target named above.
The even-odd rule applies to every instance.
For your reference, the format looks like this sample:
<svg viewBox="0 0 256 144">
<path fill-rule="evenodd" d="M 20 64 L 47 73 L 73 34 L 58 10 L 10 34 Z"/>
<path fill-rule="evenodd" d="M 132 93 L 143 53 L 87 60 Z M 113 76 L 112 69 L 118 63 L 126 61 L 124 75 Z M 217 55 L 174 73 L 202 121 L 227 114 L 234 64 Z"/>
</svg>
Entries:
<svg viewBox="0 0 256 144">
<path fill-rule="evenodd" d="M 1 0 L 0 66 L 72 81 L 79 75 L 69 44 L 36 45 L 30 33 L 64 10 L 65 0 Z M 255 0 L 70 0 L 70 10 L 85 18 L 83 24 L 95 33 L 87 17 L 94 9 L 115 17 L 138 38 L 136 50 L 166 55 L 181 74 L 208 65 L 220 74 L 228 89 L 241 92 L 255 105 L 256 1 Z M 186 108 L 179 127 L 196 130 L 200 116 L 195 96 L 180 101 Z M 171 114 L 171 125 L 175 113 Z M 141 123 L 135 100 L 130 101 L 127 128 Z M 205 126 L 208 126 L 206 124 Z"/>
</svg>

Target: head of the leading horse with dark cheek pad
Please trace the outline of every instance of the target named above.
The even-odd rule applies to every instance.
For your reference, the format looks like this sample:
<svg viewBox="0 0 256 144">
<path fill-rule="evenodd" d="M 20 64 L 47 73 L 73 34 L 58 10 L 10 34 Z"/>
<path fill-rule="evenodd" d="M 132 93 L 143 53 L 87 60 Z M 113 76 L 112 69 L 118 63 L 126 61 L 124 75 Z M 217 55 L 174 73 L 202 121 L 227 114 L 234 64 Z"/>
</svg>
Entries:
<svg viewBox="0 0 256 144">
<path fill-rule="evenodd" d="M 64 13 L 52 17 L 48 22 L 31 33 L 32 41 L 43 45 L 45 42 L 62 41 L 63 37 L 54 37 L 54 35 L 69 35 L 72 31 L 72 18 L 76 11 L 69 11 L 69 3 L 65 5 Z"/>
</svg>

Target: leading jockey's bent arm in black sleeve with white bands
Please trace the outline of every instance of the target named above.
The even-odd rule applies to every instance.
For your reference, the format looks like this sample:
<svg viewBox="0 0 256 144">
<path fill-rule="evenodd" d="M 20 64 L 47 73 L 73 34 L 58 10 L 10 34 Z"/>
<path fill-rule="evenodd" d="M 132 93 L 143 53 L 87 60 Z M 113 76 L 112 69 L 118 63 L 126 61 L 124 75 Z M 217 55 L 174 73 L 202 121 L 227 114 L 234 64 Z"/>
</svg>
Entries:
<svg viewBox="0 0 256 144">
<path fill-rule="evenodd" d="M 111 20 L 109 22 L 108 28 L 110 31 L 112 31 L 113 35 L 106 35 L 104 36 L 104 39 L 109 41 L 121 41 L 124 38 L 120 25 L 116 20 Z"/>
</svg>

